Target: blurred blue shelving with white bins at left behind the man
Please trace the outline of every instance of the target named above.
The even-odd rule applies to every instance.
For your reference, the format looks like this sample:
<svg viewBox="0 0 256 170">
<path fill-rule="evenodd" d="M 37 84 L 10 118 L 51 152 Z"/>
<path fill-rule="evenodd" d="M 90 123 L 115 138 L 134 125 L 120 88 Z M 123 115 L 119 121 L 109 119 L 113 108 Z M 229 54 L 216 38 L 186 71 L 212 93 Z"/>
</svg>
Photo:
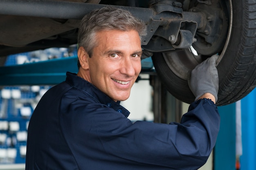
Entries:
<svg viewBox="0 0 256 170">
<path fill-rule="evenodd" d="M 59 60 L 63 61 L 65 59 L 64 57 L 67 56 L 67 50 L 56 48 L 47 49 L 39 53 L 48 56 L 51 55 L 51 57 L 49 57 L 49 60 L 37 62 L 40 60 L 40 56 L 36 56 L 38 52 L 35 51 L 10 55 L 7 57 L 4 67 L 12 69 L 18 67 L 25 68 L 23 66 L 31 65 L 30 68 L 36 68 L 40 65 L 42 67 L 40 67 L 41 69 L 47 70 L 48 67 L 45 67 L 45 65 L 51 65 L 52 63 L 52 65 L 54 65 Z M 76 51 L 73 51 L 73 55 L 75 54 Z M 54 57 L 52 57 L 52 55 L 54 55 Z M 24 64 L 17 65 L 20 56 L 22 60 L 25 59 Z M 70 61 L 71 58 L 72 61 L 76 62 L 76 57 L 67 58 L 68 61 Z M 41 65 L 41 63 L 43 63 L 43 65 Z M 5 69 L 4 67 L 2 67 L 2 69 Z M 20 71 L 18 71 L 18 69 L 16 70 L 16 74 L 20 72 L 22 72 L 22 69 Z M 9 72 L 2 73 L 7 74 Z M 19 77 L 19 75 L 16 76 L 17 78 Z M 9 78 L 11 78 L 11 76 Z M 11 80 L 1 78 L 1 81 Z M 59 81 L 63 80 L 60 79 Z M 25 163 L 29 119 L 38 100 L 43 95 L 43 92 L 46 92 L 50 87 L 52 86 L 41 85 L 36 87 L 37 90 L 34 90 L 35 88 L 31 85 L 21 85 L 6 86 L 0 89 L 0 164 Z"/>
</svg>

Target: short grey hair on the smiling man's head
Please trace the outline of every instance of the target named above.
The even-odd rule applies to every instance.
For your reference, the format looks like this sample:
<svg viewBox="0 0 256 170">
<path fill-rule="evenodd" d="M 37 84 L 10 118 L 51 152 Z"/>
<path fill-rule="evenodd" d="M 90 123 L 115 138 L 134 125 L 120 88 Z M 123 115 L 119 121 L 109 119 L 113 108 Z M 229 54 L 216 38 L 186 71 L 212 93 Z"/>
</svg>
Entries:
<svg viewBox="0 0 256 170">
<path fill-rule="evenodd" d="M 135 18 L 132 13 L 124 9 L 107 6 L 95 9 L 83 17 L 78 31 L 78 47 L 83 47 L 91 57 L 93 48 L 98 43 L 95 40 L 96 33 L 108 30 L 136 30 L 141 41 L 147 34 L 144 22 Z M 78 67 L 81 66 L 79 60 L 77 64 Z"/>
</svg>

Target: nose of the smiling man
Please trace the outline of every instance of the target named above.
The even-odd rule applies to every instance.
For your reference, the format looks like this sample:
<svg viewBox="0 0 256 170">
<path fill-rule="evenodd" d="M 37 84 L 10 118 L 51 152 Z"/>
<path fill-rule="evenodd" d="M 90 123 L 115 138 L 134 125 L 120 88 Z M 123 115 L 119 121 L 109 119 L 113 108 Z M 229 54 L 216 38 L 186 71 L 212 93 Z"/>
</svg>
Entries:
<svg viewBox="0 0 256 170">
<path fill-rule="evenodd" d="M 121 64 L 121 68 L 120 68 L 120 72 L 121 74 L 126 74 L 127 76 L 134 76 L 135 75 L 135 63 L 134 61 L 132 61 L 132 59 L 130 57 L 126 57 L 124 58 L 122 64 Z"/>
</svg>

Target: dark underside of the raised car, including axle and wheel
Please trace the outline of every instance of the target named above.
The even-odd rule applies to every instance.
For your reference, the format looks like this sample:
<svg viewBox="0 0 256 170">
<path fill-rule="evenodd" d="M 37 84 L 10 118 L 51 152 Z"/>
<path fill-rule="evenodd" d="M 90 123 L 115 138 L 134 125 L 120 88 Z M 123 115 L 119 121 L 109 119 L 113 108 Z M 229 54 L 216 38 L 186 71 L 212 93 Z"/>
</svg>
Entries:
<svg viewBox="0 0 256 170">
<path fill-rule="evenodd" d="M 146 23 L 143 58 L 152 57 L 161 81 L 181 101 L 194 100 L 188 73 L 213 54 L 220 55 L 217 105 L 227 105 L 256 86 L 256 16 L 251 1 L 1 0 L 0 64 L 4 67 L 11 54 L 76 44 L 83 16 L 115 5 Z M 0 68 L 0 78 L 8 74 L 12 73 Z"/>
</svg>

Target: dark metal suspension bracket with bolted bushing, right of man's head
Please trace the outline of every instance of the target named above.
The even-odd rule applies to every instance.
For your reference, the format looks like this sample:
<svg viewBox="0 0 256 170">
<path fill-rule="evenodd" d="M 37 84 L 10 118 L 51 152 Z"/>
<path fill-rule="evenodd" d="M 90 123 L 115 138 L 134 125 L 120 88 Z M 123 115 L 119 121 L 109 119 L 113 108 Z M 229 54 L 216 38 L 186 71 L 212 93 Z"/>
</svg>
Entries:
<svg viewBox="0 0 256 170">
<path fill-rule="evenodd" d="M 201 13 L 190 13 L 182 11 L 182 4 L 175 1 L 155 0 L 151 4 L 155 18 L 150 23 L 154 27 L 150 33 L 150 41 L 143 43 L 143 48 L 152 52 L 163 52 L 174 49 L 187 49 L 196 41 L 194 38 L 198 23 L 202 18 Z M 204 20 L 203 20 L 204 21 Z M 156 24 L 157 23 L 157 24 Z M 152 31 L 155 30 L 155 31 Z"/>
</svg>

